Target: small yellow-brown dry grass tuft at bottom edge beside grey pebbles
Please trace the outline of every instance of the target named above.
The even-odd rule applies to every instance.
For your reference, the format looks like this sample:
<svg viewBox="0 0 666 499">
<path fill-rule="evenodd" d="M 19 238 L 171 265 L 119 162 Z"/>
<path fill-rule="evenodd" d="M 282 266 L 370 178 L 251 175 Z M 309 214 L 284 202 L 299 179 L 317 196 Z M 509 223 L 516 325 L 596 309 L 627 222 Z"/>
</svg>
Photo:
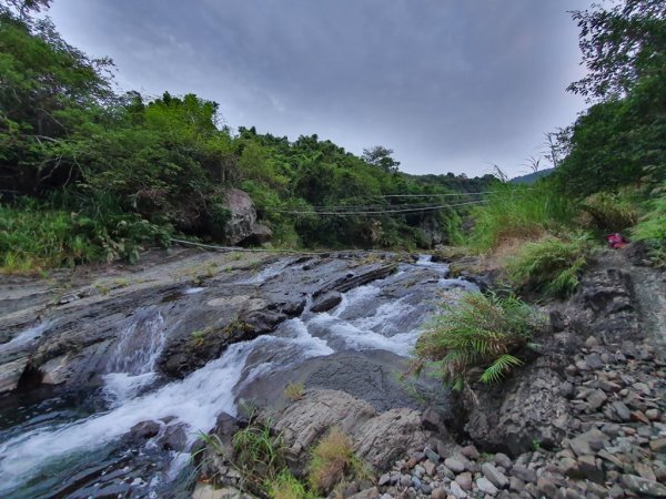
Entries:
<svg viewBox="0 0 666 499">
<path fill-rule="evenodd" d="M 354 456 L 350 438 L 334 428 L 312 449 L 307 480 L 312 490 L 329 492 L 347 472 L 362 475 L 363 465 Z"/>
</svg>

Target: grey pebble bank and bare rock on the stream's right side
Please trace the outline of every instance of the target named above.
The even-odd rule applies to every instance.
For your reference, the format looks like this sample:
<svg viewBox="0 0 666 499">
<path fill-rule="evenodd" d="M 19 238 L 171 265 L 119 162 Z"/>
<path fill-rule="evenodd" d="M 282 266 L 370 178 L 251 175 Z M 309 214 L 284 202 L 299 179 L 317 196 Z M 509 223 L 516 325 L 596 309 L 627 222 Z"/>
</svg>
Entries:
<svg viewBox="0 0 666 499">
<path fill-rule="evenodd" d="M 316 440 L 342 428 L 375 470 L 344 497 L 666 497 L 665 304 L 663 273 L 608 252 L 574 297 L 543 307 L 541 354 L 500 387 L 474 386 L 474 400 L 377 408 L 307 388 L 268 420 L 296 476 Z M 238 497 L 242 483 L 223 473 L 226 488 L 195 497 Z"/>
</svg>

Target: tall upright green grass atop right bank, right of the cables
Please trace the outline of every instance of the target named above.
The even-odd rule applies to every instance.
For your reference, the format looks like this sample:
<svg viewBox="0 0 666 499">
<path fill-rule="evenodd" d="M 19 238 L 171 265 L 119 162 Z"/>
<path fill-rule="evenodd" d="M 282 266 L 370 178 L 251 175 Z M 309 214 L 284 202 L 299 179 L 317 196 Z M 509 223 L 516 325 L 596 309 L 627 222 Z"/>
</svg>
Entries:
<svg viewBox="0 0 666 499">
<path fill-rule="evenodd" d="M 475 220 L 468 244 L 495 249 L 512 240 L 534 240 L 572 223 L 576 206 L 547 181 L 532 186 L 502 183 L 493 187 L 484 205 L 472 212 Z"/>
</svg>

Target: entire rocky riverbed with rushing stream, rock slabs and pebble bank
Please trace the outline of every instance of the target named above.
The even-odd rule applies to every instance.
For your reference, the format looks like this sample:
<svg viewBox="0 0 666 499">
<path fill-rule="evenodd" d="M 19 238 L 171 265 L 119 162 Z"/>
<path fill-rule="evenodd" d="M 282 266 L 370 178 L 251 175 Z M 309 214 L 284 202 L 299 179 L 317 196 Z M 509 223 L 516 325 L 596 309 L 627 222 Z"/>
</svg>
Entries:
<svg viewBox="0 0 666 499">
<path fill-rule="evenodd" d="M 345 497 L 665 497 L 664 274 L 601 255 L 574 297 L 542 306 L 539 355 L 474 396 L 400 376 L 438 304 L 488 284 L 448 274 L 408 255 L 175 249 L 6 277 L 0 491 L 242 496 L 229 459 L 206 470 L 225 488 L 192 492 L 205 473 L 190 455 L 209 452 L 201 432 L 229 442 L 251 404 L 296 476 L 342 428 L 373 470 Z"/>
</svg>

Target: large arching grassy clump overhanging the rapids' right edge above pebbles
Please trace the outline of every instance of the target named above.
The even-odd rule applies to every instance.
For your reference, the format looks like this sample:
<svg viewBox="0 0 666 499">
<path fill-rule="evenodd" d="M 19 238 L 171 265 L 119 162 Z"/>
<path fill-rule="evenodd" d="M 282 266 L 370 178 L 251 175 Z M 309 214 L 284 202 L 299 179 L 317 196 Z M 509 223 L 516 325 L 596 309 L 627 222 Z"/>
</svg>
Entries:
<svg viewBox="0 0 666 499">
<path fill-rule="evenodd" d="M 444 310 L 418 338 L 412 371 L 432 366 L 456 390 L 476 368 L 480 381 L 496 383 L 523 364 L 515 353 L 529 344 L 539 322 L 524 302 L 495 294 L 468 293 Z"/>
</svg>

